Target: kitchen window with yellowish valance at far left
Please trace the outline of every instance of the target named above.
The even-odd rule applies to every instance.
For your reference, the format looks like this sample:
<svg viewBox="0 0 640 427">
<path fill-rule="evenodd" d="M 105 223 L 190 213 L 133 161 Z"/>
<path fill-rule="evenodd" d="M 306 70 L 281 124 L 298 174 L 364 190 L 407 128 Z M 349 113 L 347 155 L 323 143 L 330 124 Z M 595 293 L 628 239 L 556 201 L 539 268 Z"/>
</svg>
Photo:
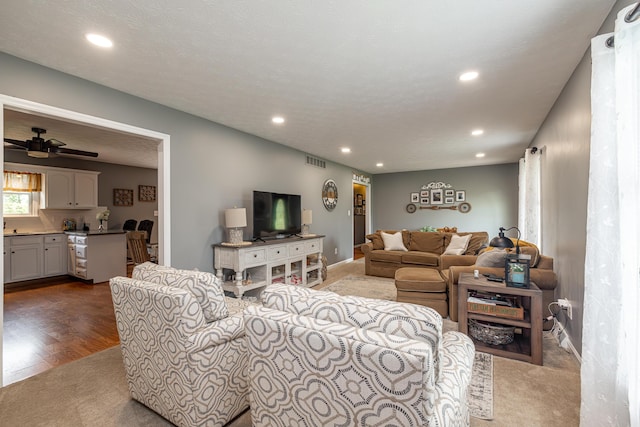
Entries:
<svg viewBox="0 0 640 427">
<path fill-rule="evenodd" d="M 2 193 L 4 216 L 36 216 L 40 207 L 42 175 L 30 172 L 5 172 Z"/>
</svg>

